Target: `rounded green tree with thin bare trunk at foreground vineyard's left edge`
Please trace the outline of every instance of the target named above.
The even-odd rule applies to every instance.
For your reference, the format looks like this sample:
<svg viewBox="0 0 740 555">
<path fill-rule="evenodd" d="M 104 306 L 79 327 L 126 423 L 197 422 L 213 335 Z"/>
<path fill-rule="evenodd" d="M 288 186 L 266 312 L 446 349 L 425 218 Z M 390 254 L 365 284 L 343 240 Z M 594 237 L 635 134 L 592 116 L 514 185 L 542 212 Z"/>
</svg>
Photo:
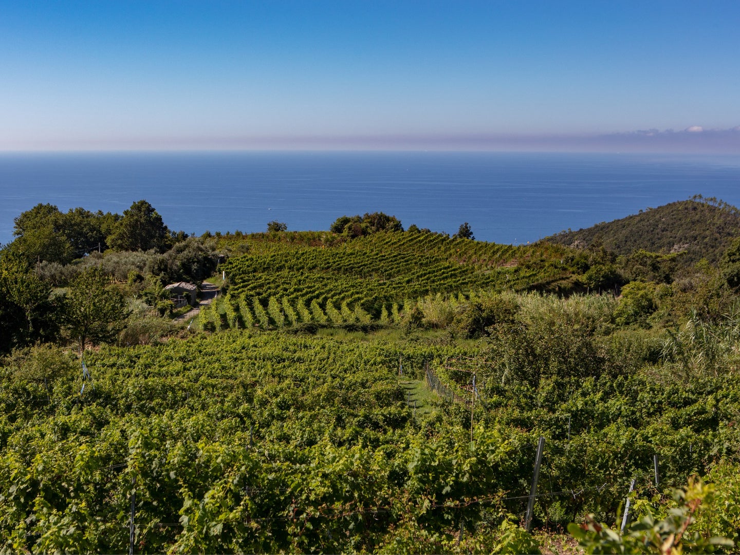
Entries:
<svg viewBox="0 0 740 555">
<path fill-rule="evenodd" d="M 91 343 L 109 341 L 124 327 L 126 301 L 98 268 L 87 269 L 70 284 L 65 298 L 65 327 L 82 351 Z"/>
</svg>

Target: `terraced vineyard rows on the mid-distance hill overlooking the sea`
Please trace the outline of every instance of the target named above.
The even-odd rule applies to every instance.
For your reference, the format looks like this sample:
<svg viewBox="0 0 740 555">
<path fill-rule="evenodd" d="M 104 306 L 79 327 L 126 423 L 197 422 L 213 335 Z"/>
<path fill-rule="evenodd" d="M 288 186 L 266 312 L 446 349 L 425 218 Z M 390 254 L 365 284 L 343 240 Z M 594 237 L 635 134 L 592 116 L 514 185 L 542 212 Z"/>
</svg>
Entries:
<svg viewBox="0 0 740 555">
<path fill-rule="evenodd" d="M 255 245 L 223 269 L 235 326 L 392 322 L 425 295 L 527 289 L 570 275 L 558 246 L 511 246 L 434 233 L 388 232 L 340 243 Z M 216 322 L 203 314 L 202 322 Z"/>
</svg>

